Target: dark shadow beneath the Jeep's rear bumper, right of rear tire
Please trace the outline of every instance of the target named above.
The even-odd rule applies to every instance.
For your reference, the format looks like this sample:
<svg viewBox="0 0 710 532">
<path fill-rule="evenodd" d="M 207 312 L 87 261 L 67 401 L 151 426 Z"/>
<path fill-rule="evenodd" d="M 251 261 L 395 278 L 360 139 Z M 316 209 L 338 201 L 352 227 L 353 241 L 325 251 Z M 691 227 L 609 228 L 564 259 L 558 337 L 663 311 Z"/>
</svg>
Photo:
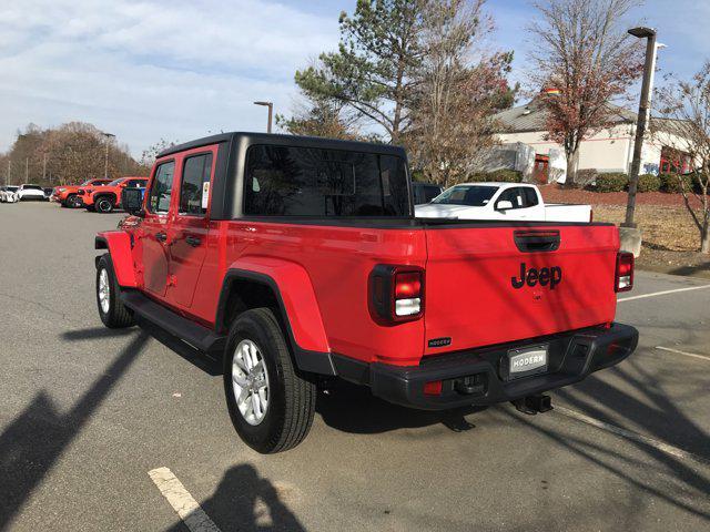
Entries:
<svg viewBox="0 0 710 532">
<path fill-rule="evenodd" d="M 369 388 L 335 381 L 318 393 L 315 406 L 323 421 L 334 429 L 357 434 L 376 434 L 403 428 L 444 424 L 454 432 L 475 428 L 465 416 L 485 410 L 467 407 L 446 411 L 414 410 L 374 397 Z"/>
</svg>

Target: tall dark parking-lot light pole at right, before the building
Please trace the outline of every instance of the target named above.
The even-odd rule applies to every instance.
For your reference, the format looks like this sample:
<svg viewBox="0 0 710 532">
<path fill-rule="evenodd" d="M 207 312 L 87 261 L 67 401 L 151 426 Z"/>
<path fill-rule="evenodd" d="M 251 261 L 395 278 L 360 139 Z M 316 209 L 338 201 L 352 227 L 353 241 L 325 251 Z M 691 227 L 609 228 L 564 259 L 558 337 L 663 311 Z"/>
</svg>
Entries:
<svg viewBox="0 0 710 532">
<path fill-rule="evenodd" d="M 632 28 L 629 34 L 638 39 L 647 39 L 646 42 L 646 64 L 643 65 L 643 81 L 641 83 L 641 101 L 639 102 L 639 114 L 636 120 L 636 140 L 633 141 L 633 158 L 631 160 L 631 172 L 629 174 L 629 195 L 626 205 L 626 219 L 622 227 L 636 228 L 633 213 L 636 211 L 636 192 L 639 185 L 639 171 L 641 168 L 641 150 L 643 149 L 643 135 L 650 114 L 650 100 L 653 83 L 653 71 L 656 70 L 656 30 L 652 28 Z M 640 237 L 639 237 L 640 246 Z"/>
</svg>

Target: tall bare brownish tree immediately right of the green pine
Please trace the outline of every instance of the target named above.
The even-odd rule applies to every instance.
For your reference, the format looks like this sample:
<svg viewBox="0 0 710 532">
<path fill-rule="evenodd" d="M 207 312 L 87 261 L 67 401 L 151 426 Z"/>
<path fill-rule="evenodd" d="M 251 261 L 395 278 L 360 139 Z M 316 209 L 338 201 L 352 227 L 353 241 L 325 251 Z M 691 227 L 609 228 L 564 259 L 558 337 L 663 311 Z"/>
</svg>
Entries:
<svg viewBox="0 0 710 532">
<path fill-rule="evenodd" d="M 427 181 L 445 186 L 465 178 L 489 152 L 493 115 L 513 103 L 505 78 L 513 53 L 479 50 L 493 29 L 484 1 L 427 0 L 422 6 L 420 49 L 426 53 L 414 76 L 405 143 Z"/>
</svg>

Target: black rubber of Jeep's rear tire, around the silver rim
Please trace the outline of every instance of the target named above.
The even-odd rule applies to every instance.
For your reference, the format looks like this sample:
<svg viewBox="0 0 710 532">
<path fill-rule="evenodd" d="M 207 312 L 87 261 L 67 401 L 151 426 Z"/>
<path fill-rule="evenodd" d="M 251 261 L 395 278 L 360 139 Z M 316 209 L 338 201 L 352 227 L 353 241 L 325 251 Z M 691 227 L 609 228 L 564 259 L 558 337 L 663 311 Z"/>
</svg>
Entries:
<svg viewBox="0 0 710 532">
<path fill-rule="evenodd" d="M 235 349 L 242 340 L 258 348 L 267 371 L 268 402 L 258 424 L 251 424 L 239 409 L 232 382 Z M 315 413 L 316 387 L 298 375 L 274 314 L 255 308 L 240 315 L 224 352 L 224 392 L 232 423 L 240 438 L 261 453 L 293 449 L 307 436 Z"/>
</svg>

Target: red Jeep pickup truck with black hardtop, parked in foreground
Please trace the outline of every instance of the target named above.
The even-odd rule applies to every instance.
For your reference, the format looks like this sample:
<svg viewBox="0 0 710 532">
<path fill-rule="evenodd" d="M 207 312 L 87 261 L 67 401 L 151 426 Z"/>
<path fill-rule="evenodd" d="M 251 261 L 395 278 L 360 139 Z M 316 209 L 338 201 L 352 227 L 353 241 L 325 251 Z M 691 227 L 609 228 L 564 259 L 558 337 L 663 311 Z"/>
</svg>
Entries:
<svg viewBox="0 0 710 532">
<path fill-rule="evenodd" d="M 633 257 L 613 225 L 417 219 L 399 147 L 221 134 L 123 194 L 131 216 L 95 238 L 102 321 L 221 357 L 260 452 L 305 438 L 323 377 L 417 409 L 532 413 L 638 341 L 615 321 Z"/>
</svg>

